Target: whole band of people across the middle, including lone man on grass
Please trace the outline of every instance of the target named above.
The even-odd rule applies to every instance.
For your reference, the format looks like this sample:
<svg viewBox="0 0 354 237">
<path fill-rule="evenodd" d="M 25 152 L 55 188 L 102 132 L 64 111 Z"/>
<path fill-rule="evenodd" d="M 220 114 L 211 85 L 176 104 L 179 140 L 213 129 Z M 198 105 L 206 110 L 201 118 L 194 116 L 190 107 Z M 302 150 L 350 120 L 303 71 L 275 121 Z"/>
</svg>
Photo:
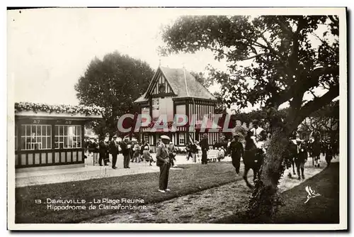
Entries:
<svg viewBox="0 0 354 237">
<path fill-rule="evenodd" d="M 258 121 L 253 121 L 252 128 L 247 131 L 246 138 L 250 142 L 245 142 L 241 133 L 236 133 L 232 139 L 225 140 L 221 143 L 212 143 L 209 145 L 207 140 L 207 133 L 202 136 L 200 141 L 193 141 L 185 147 L 186 160 L 192 159 L 196 162 L 197 154 L 202 153 L 202 165 L 206 165 L 208 162 L 207 152 L 210 149 L 217 150 L 217 160 L 221 161 L 226 156 L 232 158 L 232 165 L 235 168 L 236 175 L 240 173 L 240 161 L 244 157 L 246 150 L 257 149 L 259 153 L 263 155 L 266 153 L 268 145 L 270 143 L 270 133 L 267 133 L 265 129 L 259 126 Z M 315 145 L 318 144 L 318 145 Z M 175 166 L 176 155 L 178 149 L 173 145 L 169 136 L 161 136 L 156 143 L 156 160 L 152 158 L 150 154 L 150 145 L 146 141 L 130 141 L 125 137 L 121 142 L 117 141 L 117 136 L 113 136 L 110 141 L 103 139 L 85 140 L 84 148 L 87 153 L 93 153 L 93 162 L 99 165 L 108 165 L 110 162 L 110 155 L 112 156 L 112 168 L 117 169 L 117 156 L 122 153 L 124 160 L 124 168 L 130 169 L 130 162 L 149 162 L 152 166 L 152 162 L 156 162 L 156 165 L 160 168 L 159 177 L 159 192 L 169 192 L 168 180 L 169 169 Z M 325 155 L 325 159 L 328 165 L 334 155 L 338 155 L 338 142 L 330 140 L 319 140 L 316 134 L 312 134 L 310 139 L 301 140 L 297 132 L 293 133 L 290 137 L 290 146 L 287 148 L 285 154 L 285 166 L 287 168 L 294 164 L 297 168 L 298 179 L 304 179 L 304 164 L 307 162 L 307 158 L 315 156 L 315 148 L 321 150 L 321 153 Z M 295 171 L 294 171 L 295 172 Z"/>
</svg>

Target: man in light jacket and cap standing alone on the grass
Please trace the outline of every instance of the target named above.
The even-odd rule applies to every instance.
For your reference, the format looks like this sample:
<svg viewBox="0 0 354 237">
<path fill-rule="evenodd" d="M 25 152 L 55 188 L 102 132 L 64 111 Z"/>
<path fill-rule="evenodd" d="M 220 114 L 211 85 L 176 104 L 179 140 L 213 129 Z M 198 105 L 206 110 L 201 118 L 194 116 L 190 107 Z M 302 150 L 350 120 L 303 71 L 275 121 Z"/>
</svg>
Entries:
<svg viewBox="0 0 354 237">
<path fill-rule="evenodd" d="M 169 150 L 166 148 L 170 142 L 169 136 L 161 136 L 161 143 L 157 147 L 156 152 L 156 165 L 160 167 L 160 178 L 159 178 L 159 192 L 169 192 L 170 189 L 167 188 L 169 183 L 169 169 L 170 169 L 170 159 Z"/>
</svg>

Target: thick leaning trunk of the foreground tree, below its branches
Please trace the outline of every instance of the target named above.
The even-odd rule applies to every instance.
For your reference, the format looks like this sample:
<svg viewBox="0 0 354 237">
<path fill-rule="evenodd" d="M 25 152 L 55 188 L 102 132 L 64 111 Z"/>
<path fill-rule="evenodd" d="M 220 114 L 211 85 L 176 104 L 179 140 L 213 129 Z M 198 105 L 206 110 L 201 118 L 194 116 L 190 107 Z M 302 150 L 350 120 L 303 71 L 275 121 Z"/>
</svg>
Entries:
<svg viewBox="0 0 354 237">
<path fill-rule="evenodd" d="M 261 178 L 256 180 L 249 202 L 247 217 L 250 222 L 269 223 L 278 209 L 278 182 L 284 172 L 282 160 L 289 141 L 289 133 L 283 128 L 277 128 L 273 132 L 273 138 L 260 170 Z"/>
</svg>

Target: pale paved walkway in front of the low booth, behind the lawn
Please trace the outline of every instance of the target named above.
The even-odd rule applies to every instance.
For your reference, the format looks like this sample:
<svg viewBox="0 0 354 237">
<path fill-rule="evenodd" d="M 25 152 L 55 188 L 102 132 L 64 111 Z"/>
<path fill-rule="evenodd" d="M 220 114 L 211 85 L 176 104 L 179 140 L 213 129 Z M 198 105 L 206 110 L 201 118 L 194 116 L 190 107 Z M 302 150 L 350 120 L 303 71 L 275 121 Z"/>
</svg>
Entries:
<svg viewBox="0 0 354 237">
<path fill-rule="evenodd" d="M 229 158 L 229 160 L 231 159 Z M 176 156 L 176 165 L 192 163 L 192 160 L 185 159 L 185 155 Z M 122 155 L 118 155 L 117 167 L 117 170 L 113 170 L 111 163 L 108 163 L 108 166 L 93 165 L 92 158 L 89 157 L 86 159 L 85 167 L 16 173 L 16 187 L 159 172 L 159 167 L 156 166 L 156 163 L 152 163 L 152 166 L 149 166 L 147 162 L 130 162 L 130 169 L 124 169 Z M 172 167 L 172 169 L 178 168 Z"/>
</svg>

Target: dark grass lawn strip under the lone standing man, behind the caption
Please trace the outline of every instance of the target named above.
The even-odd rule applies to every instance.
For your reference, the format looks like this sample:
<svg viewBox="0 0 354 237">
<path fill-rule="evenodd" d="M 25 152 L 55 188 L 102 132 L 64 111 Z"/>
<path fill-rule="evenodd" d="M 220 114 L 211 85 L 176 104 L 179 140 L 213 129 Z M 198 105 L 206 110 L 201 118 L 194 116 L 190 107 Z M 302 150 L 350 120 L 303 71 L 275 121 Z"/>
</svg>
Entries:
<svg viewBox="0 0 354 237">
<path fill-rule="evenodd" d="M 32 223 L 78 223 L 96 216 L 113 214 L 120 210 L 62 210 L 47 209 L 47 204 L 35 204 L 35 199 L 144 199 L 145 204 L 200 192 L 234 182 L 236 173 L 231 162 L 209 163 L 208 165 L 179 165 L 183 170 L 170 170 L 171 192 L 157 192 L 159 172 L 95 180 L 44 184 L 16 188 L 16 224 Z M 237 177 L 237 180 L 241 177 Z M 89 204 L 86 204 L 89 206 Z"/>
</svg>

